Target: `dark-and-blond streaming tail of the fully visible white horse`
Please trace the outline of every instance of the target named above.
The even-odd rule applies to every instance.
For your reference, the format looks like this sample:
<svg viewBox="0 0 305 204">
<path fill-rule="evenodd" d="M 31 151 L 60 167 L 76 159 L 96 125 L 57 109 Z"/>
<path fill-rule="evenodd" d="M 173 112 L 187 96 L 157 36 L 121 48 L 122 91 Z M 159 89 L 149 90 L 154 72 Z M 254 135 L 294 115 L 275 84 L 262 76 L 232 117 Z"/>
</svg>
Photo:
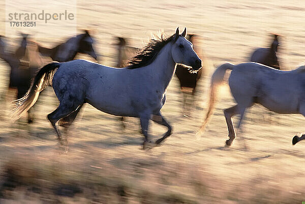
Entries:
<svg viewBox="0 0 305 204">
<path fill-rule="evenodd" d="M 55 70 L 59 66 L 59 63 L 50 63 L 39 70 L 27 93 L 22 98 L 13 101 L 15 107 L 12 112 L 12 122 L 18 120 L 22 113 L 26 112 L 36 103 L 39 93 L 51 83 Z"/>
</svg>

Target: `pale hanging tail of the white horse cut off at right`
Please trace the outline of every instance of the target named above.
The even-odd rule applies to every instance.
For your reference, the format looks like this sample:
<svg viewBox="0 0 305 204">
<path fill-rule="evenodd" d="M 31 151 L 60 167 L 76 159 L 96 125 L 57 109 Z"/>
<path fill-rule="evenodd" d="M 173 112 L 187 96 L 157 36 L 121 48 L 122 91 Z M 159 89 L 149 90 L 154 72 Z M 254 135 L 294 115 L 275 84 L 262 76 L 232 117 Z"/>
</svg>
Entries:
<svg viewBox="0 0 305 204">
<path fill-rule="evenodd" d="M 214 110 L 215 107 L 215 102 L 217 99 L 217 90 L 219 85 L 221 85 L 224 82 L 224 77 L 226 74 L 226 71 L 233 70 L 235 65 L 230 64 L 230 63 L 225 63 L 217 68 L 217 70 L 214 72 L 211 78 L 211 85 L 210 85 L 210 98 L 209 98 L 209 105 L 208 105 L 208 110 L 205 116 L 205 119 L 199 129 L 199 131 L 196 134 L 200 134 L 201 132 L 204 131 L 205 126 L 212 114 L 212 111 Z"/>
</svg>

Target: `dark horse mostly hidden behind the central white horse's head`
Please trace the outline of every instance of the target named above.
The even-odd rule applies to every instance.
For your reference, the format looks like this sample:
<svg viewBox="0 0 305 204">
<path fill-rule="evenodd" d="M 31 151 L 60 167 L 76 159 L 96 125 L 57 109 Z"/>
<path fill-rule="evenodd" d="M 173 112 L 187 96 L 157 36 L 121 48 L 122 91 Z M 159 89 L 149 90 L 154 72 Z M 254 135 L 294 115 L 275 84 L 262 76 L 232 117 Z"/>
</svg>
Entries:
<svg viewBox="0 0 305 204">
<path fill-rule="evenodd" d="M 194 50 L 198 53 L 199 57 L 202 59 L 200 56 L 198 50 L 196 49 L 195 43 L 195 38 L 196 35 L 194 34 L 188 34 L 187 39 L 193 43 Z M 180 82 L 180 90 L 182 92 L 182 97 L 183 97 L 183 108 L 184 108 L 184 116 L 190 116 L 191 113 L 191 107 L 193 106 L 194 102 L 194 95 L 195 95 L 195 89 L 197 85 L 197 81 L 200 79 L 202 70 L 200 69 L 197 72 L 192 72 L 191 70 L 188 70 L 185 68 L 184 65 L 178 64 L 176 67 L 176 76 L 179 79 Z M 190 97 L 189 97 L 190 96 Z M 190 99 L 188 99 L 190 98 Z"/>
</svg>

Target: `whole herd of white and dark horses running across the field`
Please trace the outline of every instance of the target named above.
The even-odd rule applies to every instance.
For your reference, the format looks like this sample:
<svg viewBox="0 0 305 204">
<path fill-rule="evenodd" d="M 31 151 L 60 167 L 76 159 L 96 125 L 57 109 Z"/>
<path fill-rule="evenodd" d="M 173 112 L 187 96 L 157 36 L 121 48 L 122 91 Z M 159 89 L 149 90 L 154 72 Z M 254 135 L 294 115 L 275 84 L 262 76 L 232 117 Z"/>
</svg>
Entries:
<svg viewBox="0 0 305 204">
<path fill-rule="evenodd" d="M 38 43 L 27 41 L 26 37 L 23 35 L 20 47 L 13 54 L 5 51 L 6 45 L 0 38 L 0 57 L 11 67 L 10 88 L 18 89 L 18 99 L 14 101 L 12 120 L 19 119 L 35 104 L 40 92 L 47 85 L 52 85 L 59 105 L 48 114 L 47 118 L 62 145 L 64 142 L 58 125 L 69 128 L 84 103 L 112 115 L 139 118 L 142 134 L 145 137 L 143 148 L 160 144 L 172 133 L 171 126 L 161 114 L 172 77 L 176 73 L 181 91 L 188 90 L 188 93 L 194 95 L 196 82 L 203 70 L 201 57 L 196 53 L 196 45 L 193 47 L 192 44 L 196 35 L 187 35 L 186 28 L 182 34 L 179 34 L 177 28 L 175 34 L 169 37 L 161 35 L 151 39 L 128 64 L 124 64 L 127 41 L 124 38 L 118 38 L 118 44 L 116 44 L 118 45 L 118 68 L 85 60 L 74 60 L 78 52 L 86 53 L 97 60 L 97 54 L 93 49 L 94 41 L 88 31 L 54 48 L 46 48 Z M 29 45 L 32 50 L 37 51 L 36 53 L 49 56 L 57 62 L 38 69 L 41 62 L 36 60 L 37 54 L 35 56 L 34 52 L 29 51 L 27 48 Z M 196 134 L 202 134 L 207 125 L 215 106 L 217 87 L 223 82 L 226 70 L 232 70 L 228 81 L 237 103 L 224 111 L 229 132 L 226 145 L 231 145 L 236 136 L 232 116 L 240 114 L 239 127 L 246 108 L 254 103 L 260 103 L 274 112 L 300 113 L 305 116 L 305 99 L 302 98 L 305 94 L 305 66 L 293 71 L 279 70 L 277 57 L 279 45 L 279 36 L 274 35 L 270 47 L 255 50 L 250 63 L 239 65 L 226 63 L 216 69 L 211 77 L 207 114 Z M 23 70 L 27 72 L 24 74 L 20 72 L 22 67 L 31 69 L 24 68 Z M 20 76 L 27 76 L 27 78 L 22 79 Z M 168 129 L 155 142 L 148 139 L 149 120 Z M 33 120 L 29 117 L 28 121 Z M 294 136 L 292 143 L 295 144 L 304 138 L 305 135 Z M 67 145 L 66 148 L 68 148 Z"/>
</svg>

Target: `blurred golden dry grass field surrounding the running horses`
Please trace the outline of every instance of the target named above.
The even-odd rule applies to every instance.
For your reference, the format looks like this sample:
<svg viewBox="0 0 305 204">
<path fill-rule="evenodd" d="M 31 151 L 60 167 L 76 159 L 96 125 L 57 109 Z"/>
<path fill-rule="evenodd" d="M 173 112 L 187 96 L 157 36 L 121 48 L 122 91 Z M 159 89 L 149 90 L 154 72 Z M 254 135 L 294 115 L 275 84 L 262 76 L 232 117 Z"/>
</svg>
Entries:
<svg viewBox="0 0 305 204">
<path fill-rule="evenodd" d="M 0 2 L 0 34 L 13 53 L 22 45 L 19 33 L 8 32 L 6 7 Z M 10 4 L 12 4 L 10 2 Z M 22 4 L 27 12 L 38 5 Z M 57 4 L 56 1 L 49 2 Z M 75 5 L 76 4 L 76 5 Z M 48 7 L 48 6 L 46 6 Z M 67 7 L 67 4 L 65 5 Z M 69 7 L 69 5 L 68 5 Z M 197 36 L 194 47 L 205 59 L 203 76 L 184 116 L 179 80 L 173 78 L 162 112 L 174 133 L 161 145 L 142 150 L 138 119 L 117 117 L 83 108 L 66 134 L 69 152 L 62 154 L 46 116 L 58 102 L 51 87 L 33 108 L 34 121 L 24 116 L 10 122 L 10 66 L 0 61 L 0 203 L 301 203 L 305 200 L 305 149 L 292 137 L 304 131 L 301 115 L 269 114 L 260 105 L 246 112 L 245 122 L 230 148 L 224 148 L 227 126 L 223 110 L 235 102 L 227 86 L 221 90 L 214 115 L 204 134 L 195 136 L 206 113 L 208 86 L 214 67 L 224 62 L 249 62 L 258 47 L 269 47 L 281 35 L 277 56 L 281 69 L 304 62 L 304 4 L 300 1 L 71 1 L 76 24 L 37 29 L 28 37 L 55 47 L 88 30 L 99 63 L 118 65 L 120 40 L 125 58 L 143 47 L 151 34 L 180 31 Z M 27 10 L 28 8 L 28 10 Z M 37 12 L 40 12 L 38 10 Z M 54 22 L 53 22 L 54 23 Z M 76 27 L 75 27 L 76 26 Z M 20 30 L 20 32 L 23 32 Z M 10 34 L 10 35 L 7 35 Z M 29 43 L 31 44 L 31 43 Z M 41 56 L 42 64 L 51 62 Z M 76 59 L 95 61 L 88 54 Z M 236 117 L 238 118 L 238 117 Z M 155 140 L 166 131 L 150 123 Z"/>
</svg>

